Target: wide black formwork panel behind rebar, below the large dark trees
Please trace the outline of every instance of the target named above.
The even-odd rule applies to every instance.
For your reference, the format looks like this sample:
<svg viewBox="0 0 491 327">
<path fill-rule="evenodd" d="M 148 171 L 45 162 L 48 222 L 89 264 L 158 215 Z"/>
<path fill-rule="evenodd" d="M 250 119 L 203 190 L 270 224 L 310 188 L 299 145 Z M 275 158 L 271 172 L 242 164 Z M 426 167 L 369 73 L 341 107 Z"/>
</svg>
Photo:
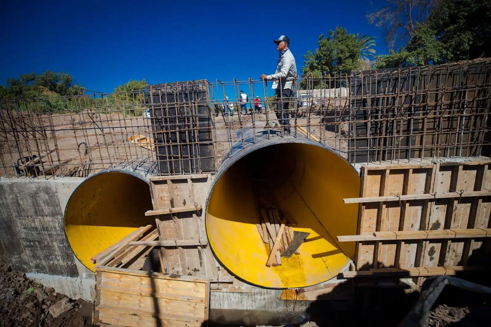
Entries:
<svg viewBox="0 0 491 327">
<path fill-rule="evenodd" d="M 485 155 L 490 67 L 488 61 L 354 72 L 349 161 Z"/>
</svg>

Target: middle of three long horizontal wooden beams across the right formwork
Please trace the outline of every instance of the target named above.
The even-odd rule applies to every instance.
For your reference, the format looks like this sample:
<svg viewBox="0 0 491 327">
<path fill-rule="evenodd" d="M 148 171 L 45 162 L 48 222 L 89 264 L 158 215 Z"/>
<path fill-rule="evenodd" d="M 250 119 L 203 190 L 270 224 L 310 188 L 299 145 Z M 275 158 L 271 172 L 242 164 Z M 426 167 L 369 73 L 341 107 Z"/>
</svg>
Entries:
<svg viewBox="0 0 491 327">
<path fill-rule="evenodd" d="M 338 242 L 434 240 L 491 237 L 491 228 L 439 229 L 396 232 L 374 232 L 373 235 L 338 236 Z"/>
</svg>

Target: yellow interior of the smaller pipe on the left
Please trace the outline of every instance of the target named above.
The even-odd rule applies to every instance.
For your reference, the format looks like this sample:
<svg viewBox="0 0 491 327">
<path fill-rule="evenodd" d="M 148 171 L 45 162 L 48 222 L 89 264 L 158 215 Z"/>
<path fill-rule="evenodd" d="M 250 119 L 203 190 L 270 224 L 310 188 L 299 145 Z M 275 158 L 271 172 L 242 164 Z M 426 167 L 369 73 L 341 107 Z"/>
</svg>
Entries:
<svg viewBox="0 0 491 327">
<path fill-rule="evenodd" d="M 94 270 L 90 258 L 136 228 L 155 224 L 148 184 L 131 174 L 105 172 L 85 180 L 65 209 L 65 233 L 82 264 Z"/>
</svg>

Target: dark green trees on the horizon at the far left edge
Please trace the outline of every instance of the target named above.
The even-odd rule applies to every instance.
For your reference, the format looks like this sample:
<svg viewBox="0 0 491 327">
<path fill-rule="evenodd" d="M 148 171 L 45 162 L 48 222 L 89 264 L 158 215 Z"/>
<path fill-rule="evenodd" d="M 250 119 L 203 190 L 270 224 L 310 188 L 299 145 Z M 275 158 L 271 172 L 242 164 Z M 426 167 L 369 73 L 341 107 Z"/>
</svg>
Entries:
<svg viewBox="0 0 491 327">
<path fill-rule="evenodd" d="M 7 79 L 5 90 L 0 96 L 42 98 L 82 94 L 84 87 L 74 82 L 73 76 L 64 72 L 45 71 L 42 74 L 30 73 L 19 78 Z"/>
</svg>

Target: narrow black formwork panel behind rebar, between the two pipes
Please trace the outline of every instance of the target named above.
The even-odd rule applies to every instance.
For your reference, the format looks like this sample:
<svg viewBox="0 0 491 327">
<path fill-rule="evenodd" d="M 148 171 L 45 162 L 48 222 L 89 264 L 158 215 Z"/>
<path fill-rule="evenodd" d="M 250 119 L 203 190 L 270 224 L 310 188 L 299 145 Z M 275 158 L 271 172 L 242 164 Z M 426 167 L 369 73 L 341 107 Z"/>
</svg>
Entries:
<svg viewBox="0 0 491 327">
<path fill-rule="evenodd" d="M 215 172 L 206 80 L 147 85 L 160 175 Z"/>
</svg>

